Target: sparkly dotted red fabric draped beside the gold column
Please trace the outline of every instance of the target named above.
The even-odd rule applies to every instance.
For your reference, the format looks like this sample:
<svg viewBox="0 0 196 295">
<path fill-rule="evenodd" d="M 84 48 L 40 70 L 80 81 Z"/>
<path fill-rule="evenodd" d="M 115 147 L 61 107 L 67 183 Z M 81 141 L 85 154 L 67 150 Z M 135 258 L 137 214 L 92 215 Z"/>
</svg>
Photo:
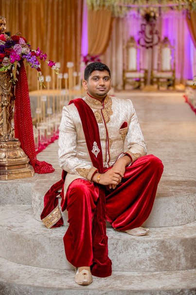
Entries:
<svg viewBox="0 0 196 295">
<path fill-rule="evenodd" d="M 18 82 L 15 89 L 15 137 L 19 139 L 20 146 L 29 157 L 30 164 L 34 167 L 36 173 L 52 173 L 54 172 L 54 168 L 51 164 L 48 164 L 45 161 L 40 162 L 36 158 L 29 89 L 23 61 L 20 61 L 18 71 Z"/>
</svg>

